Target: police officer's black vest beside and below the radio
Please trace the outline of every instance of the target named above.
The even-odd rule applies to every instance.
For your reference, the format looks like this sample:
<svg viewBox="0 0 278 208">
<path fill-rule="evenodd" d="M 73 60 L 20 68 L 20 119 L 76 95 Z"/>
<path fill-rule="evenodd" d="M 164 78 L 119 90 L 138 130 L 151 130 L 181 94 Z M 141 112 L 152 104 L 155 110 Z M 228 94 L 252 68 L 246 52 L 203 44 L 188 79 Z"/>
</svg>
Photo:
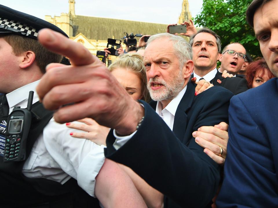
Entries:
<svg viewBox="0 0 278 208">
<path fill-rule="evenodd" d="M 53 116 L 53 112 L 47 111 L 39 102 L 32 105 L 32 114 L 34 118 L 28 134 L 26 158 Z M 25 161 L 3 162 L 3 157 L 0 157 L 1 208 L 99 207 L 98 200 L 82 190 L 75 179 L 71 178 L 63 185 L 43 178 L 31 179 L 21 172 L 24 163 Z"/>
</svg>

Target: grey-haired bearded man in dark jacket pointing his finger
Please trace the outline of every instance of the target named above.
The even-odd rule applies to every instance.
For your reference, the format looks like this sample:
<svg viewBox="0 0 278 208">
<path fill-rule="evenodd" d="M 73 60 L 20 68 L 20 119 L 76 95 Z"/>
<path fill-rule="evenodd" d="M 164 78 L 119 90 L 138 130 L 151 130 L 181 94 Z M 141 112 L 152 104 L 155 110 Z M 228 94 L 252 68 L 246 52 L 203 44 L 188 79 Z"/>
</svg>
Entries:
<svg viewBox="0 0 278 208">
<path fill-rule="evenodd" d="M 66 68 L 49 66 L 37 88 L 49 109 L 78 100 L 58 109 L 54 115 L 58 122 L 91 117 L 110 127 L 106 157 L 130 167 L 164 194 L 164 207 L 210 207 L 220 180 L 219 165 L 195 142 L 192 132 L 227 122 L 233 94 L 213 87 L 195 96 L 195 86 L 188 82 L 193 70 L 191 47 L 183 38 L 157 34 L 148 40 L 144 63 L 150 93 L 158 101 L 151 105 L 157 112 L 143 101 L 141 105 L 133 101 L 103 64 L 84 53 L 83 46 L 49 30 L 39 38 L 74 63 Z M 55 88 L 64 87 L 59 101 L 51 99 L 56 97 Z M 77 89 L 86 94 L 72 97 Z M 220 150 L 217 146 L 217 154 Z"/>
</svg>

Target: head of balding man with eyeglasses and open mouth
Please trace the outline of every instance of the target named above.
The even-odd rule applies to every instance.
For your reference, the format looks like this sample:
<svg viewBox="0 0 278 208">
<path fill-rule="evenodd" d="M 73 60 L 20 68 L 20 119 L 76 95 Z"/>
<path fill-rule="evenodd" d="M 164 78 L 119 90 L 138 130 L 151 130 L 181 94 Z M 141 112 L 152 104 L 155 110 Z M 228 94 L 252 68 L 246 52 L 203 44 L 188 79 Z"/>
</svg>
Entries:
<svg viewBox="0 0 278 208">
<path fill-rule="evenodd" d="M 220 54 L 219 61 L 221 62 L 221 66 L 219 71 L 223 72 L 226 70 L 235 77 L 242 68 L 246 57 L 245 54 L 246 50 L 242 44 L 238 42 L 228 44 L 224 47 L 222 54 Z"/>
</svg>

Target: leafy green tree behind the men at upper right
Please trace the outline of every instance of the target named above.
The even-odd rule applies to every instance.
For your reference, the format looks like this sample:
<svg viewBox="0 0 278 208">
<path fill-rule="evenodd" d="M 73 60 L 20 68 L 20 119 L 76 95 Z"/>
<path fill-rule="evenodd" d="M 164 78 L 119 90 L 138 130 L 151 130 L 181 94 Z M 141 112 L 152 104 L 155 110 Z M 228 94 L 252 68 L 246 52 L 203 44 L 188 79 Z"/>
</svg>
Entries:
<svg viewBox="0 0 278 208">
<path fill-rule="evenodd" d="M 222 41 L 222 48 L 231 42 L 240 42 L 253 56 L 262 56 L 254 30 L 245 18 L 252 0 L 203 0 L 202 12 L 194 18 L 199 27 L 215 31 Z"/>
</svg>

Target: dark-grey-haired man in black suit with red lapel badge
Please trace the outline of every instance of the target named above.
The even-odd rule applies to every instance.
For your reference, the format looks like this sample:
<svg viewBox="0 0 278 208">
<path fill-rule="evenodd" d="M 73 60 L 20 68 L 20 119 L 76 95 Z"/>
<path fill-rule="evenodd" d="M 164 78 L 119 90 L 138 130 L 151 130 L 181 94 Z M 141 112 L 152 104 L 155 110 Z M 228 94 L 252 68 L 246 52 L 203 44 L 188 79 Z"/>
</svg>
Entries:
<svg viewBox="0 0 278 208">
<path fill-rule="evenodd" d="M 214 86 L 222 86 L 234 94 L 239 94 L 248 90 L 245 79 L 238 77 L 224 78 L 222 77 L 222 73 L 217 70 L 217 60 L 223 55 L 221 54 L 220 37 L 214 31 L 209 28 L 200 29 L 196 34 L 191 35 L 189 44 L 192 47 L 192 60 L 194 63 L 191 78 L 196 77 L 196 81 L 205 79 Z M 243 52 L 244 55 L 245 49 L 239 52 Z M 231 60 L 233 59 L 232 55 L 228 54 L 228 56 L 231 57 Z M 237 57 L 237 55 L 235 55 L 235 57 Z M 242 62 L 243 61 L 244 59 L 242 59 Z M 235 62 L 239 63 L 238 60 L 235 60 Z M 242 66 L 242 63 L 239 63 L 239 65 Z"/>
</svg>

